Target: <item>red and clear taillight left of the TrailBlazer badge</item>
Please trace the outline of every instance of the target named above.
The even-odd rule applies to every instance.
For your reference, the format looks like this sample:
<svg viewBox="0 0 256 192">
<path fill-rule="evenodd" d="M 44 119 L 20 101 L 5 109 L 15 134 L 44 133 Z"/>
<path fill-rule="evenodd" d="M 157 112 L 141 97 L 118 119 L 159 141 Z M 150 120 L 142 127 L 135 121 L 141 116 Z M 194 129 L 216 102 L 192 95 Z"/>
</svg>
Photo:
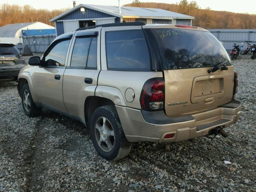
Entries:
<svg viewBox="0 0 256 192">
<path fill-rule="evenodd" d="M 140 104 L 144 110 L 164 108 L 164 78 L 152 78 L 144 84 Z"/>
</svg>

